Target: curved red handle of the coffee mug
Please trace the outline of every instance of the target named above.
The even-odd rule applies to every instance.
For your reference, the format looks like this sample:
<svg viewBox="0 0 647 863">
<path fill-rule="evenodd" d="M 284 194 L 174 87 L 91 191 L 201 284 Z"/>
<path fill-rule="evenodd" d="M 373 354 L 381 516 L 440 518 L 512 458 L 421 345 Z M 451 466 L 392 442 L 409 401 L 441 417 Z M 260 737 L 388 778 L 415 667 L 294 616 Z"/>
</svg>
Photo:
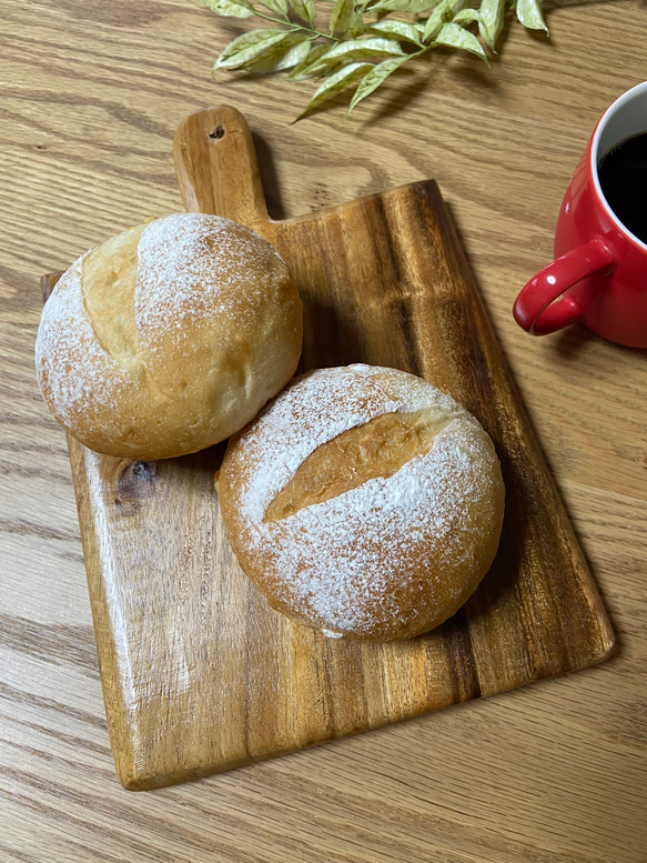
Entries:
<svg viewBox="0 0 647 863">
<path fill-rule="evenodd" d="M 546 335 L 575 323 L 584 308 L 572 297 L 560 294 L 613 263 L 614 254 L 600 237 L 556 258 L 519 291 L 513 307 L 515 321 L 534 335 Z"/>
</svg>

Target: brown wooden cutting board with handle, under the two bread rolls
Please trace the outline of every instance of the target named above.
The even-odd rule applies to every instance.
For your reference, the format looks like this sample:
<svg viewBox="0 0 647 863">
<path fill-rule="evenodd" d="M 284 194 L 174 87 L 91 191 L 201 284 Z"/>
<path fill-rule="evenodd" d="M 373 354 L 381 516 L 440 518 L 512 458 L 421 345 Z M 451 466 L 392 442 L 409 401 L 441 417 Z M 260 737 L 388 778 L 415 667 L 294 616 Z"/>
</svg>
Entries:
<svg viewBox="0 0 647 863">
<path fill-rule="evenodd" d="M 367 362 L 446 389 L 496 444 L 506 519 L 491 572 L 442 628 L 395 644 L 326 640 L 269 609 L 233 559 L 213 483 L 222 445 L 151 463 L 70 438 L 123 785 L 194 779 L 605 659 L 609 622 L 436 183 L 276 222 L 235 110 L 189 117 L 174 155 L 189 210 L 249 224 L 290 264 L 303 369 Z"/>
</svg>

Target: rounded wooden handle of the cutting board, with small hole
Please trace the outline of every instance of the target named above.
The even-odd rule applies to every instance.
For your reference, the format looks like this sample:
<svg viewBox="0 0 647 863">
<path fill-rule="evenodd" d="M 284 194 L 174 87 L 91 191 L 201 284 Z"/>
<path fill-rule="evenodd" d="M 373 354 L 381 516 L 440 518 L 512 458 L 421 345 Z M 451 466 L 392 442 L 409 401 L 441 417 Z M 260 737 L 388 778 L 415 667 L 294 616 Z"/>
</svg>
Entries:
<svg viewBox="0 0 647 863">
<path fill-rule="evenodd" d="M 190 114 L 175 133 L 173 161 L 190 212 L 224 215 L 250 228 L 270 220 L 252 133 L 235 108 Z"/>
</svg>

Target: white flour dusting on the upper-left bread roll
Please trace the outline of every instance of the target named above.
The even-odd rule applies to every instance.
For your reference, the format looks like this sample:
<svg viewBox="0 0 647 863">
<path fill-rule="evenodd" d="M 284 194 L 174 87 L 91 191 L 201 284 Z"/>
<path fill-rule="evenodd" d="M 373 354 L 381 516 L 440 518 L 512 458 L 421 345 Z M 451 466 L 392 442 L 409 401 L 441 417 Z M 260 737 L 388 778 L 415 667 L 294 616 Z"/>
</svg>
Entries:
<svg viewBox="0 0 647 863">
<path fill-rule="evenodd" d="M 263 290 L 262 275 L 279 257 L 249 228 L 216 215 L 174 213 L 151 222 L 138 245 L 137 354 L 124 358 L 104 349 L 88 313 L 82 274 L 89 253 L 63 273 L 43 308 L 37 378 L 43 394 L 49 389 L 48 404 L 63 425 L 74 431 L 79 415 L 104 415 L 109 409 L 115 433 L 130 422 L 128 405 L 142 375 L 154 381 L 178 358 L 209 351 L 214 320 L 223 323 L 223 342 L 235 341 L 239 332 L 245 335 L 253 311 L 242 300 L 232 303 L 232 295 L 251 272 L 259 274 Z M 232 337 L 226 327 L 234 315 Z M 203 341 L 196 333 L 201 325 Z"/>
</svg>

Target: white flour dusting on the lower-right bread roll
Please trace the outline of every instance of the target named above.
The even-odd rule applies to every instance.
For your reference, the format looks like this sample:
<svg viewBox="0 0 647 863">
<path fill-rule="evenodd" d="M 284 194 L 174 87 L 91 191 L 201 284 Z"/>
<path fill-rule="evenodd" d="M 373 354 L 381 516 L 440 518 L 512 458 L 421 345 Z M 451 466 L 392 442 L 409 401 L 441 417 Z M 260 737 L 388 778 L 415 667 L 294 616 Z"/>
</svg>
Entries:
<svg viewBox="0 0 647 863">
<path fill-rule="evenodd" d="M 492 499 L 496 455 L 476 420 L 418 378 L 396 372 L 391 388 L 375 379 L 376 371 L 387 372 L 352 365 L 306 375 L 241 439 L 241 458 L 251 466 L 240 494 L 250 550 L 264 554 L 280 580 L 277 599 L 333 631 L 370 629 L 376 603 L 382 619 L 404 621 L 390 589 L 394 571 L 402 585 L 417 582 L 426 569 L 471 563 L 482 536 L 467 523 L 469 512 Z M 358 375 L 364 387 L 357 387 Z M 422 409 L 436 409 L 448 420 L 427 453 L 390 478 L 263 521 L 271 501 L 317 446 L 383 413 Z M 428 580 L 419 586 L 432 602 L 434 589 Z M 446 595 L 447 585 L 443 589 Z M 457 585 L 456 598 L 459 592 Z M 406 614 L 415 619 L 416 609 Z"/>
</svg>

